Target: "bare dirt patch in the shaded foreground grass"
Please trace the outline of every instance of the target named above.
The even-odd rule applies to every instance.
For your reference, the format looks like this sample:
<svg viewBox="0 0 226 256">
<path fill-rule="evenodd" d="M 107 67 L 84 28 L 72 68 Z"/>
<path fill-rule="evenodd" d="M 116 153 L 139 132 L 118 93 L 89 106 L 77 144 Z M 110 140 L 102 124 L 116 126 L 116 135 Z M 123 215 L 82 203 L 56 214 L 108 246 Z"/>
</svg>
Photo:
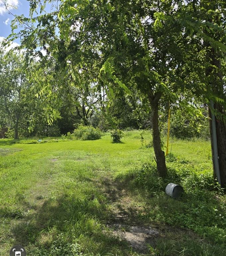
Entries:
<svg viewBox="0 0 226 256">
<path fill-rule="evenodd" d="M 149 246 L 155 248 L 159 240 L 178 241 L 183 237 L 195 237 L 190 230 L 145 220 L 142 216 L 148 214 L 149 208 L 124 183 L 105 179 L 101 185 L 104 185 L 104 194 L 112 206 L 113 215 L 108 221 L 110 233 L 126 240 L 134 251 L 146 254 Z"/>
</svg>

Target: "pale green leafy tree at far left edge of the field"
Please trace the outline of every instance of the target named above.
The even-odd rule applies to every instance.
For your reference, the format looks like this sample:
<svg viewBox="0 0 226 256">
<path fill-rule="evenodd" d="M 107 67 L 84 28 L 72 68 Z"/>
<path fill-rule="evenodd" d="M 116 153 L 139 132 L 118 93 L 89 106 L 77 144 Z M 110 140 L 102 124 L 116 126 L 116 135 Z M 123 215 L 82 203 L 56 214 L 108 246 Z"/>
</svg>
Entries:
<svg viewBox="0 0 226 256">
<path fill-rule="evenodd" d="M 47 125 L 47 110 L 42 104 L 46 99 L 37 98 L 37 93 L 45 89 L 45 80 L 41 79 L 44 76 L 41 76 L 38 66 L 27 60 L 23 51 L 1 51 L 0 125 L 10 124 L 14 129 L 14 139 L 34 134 L 33 128 L 40 132 L 42 123 Z"/>
</svg>

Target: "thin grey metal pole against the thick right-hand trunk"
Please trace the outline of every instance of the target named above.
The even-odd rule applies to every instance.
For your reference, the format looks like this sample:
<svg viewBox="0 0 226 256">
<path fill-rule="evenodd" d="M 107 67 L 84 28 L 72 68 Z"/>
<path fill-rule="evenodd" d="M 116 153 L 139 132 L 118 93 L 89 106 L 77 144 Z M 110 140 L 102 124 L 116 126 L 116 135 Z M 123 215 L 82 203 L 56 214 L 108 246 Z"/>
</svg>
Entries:
<svg viewBox="0 0 226 256">
<path fill-rule="evenodd" d="M 213 101 L 210 100 L 210 106 L 214 109 Z M 211 111 L 211 119 L 212 119 L 212 144 L 213 144 L 213 164 L 217 175 L 217 181 L 221 185 L 220 181 L 220 169 L 218 162 L 218 151 L 217 151 L 217 133 L 216 133 L 216 119 L 214 113 Z"/>
</svg>

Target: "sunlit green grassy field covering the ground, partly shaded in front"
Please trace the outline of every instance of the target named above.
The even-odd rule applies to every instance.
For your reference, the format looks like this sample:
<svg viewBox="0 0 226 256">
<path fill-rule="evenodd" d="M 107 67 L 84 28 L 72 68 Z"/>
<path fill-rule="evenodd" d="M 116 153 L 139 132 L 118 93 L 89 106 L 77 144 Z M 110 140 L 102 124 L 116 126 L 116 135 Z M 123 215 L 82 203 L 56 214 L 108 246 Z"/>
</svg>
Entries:
<svg viewBox="0 0 226 256">
<path fill-rule="evenodd" d="M 226 255 L 226 200 L 212 179 L 210 143 L 174 140 L 163 180 L 148 136 L 143 146 L 139 131 L 119 144 L 109 134 L 1 139 L 0 255 L 15 244 L 28 256 Z M 169 182 L 183 186 L 181 198 L 165 194 Z"/>
</svg>

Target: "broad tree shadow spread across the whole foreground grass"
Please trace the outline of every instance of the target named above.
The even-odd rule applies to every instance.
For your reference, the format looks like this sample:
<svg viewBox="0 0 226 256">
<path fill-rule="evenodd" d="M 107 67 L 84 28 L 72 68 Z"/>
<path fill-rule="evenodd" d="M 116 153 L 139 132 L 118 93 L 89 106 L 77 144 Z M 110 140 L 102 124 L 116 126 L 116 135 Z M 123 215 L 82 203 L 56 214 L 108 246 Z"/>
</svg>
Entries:
<svg viewBox="0 0 226 256">
<path fill-rule="evenodd" d="M 143 243 L 153 246 L 161 239 L 164 244 L 175 237 L 179 244 L 178 250 L 183 249 L 183 244 L 186 244 L 187 248 L 193 246 L 192 243 L 186 242 L 187 240 L 180 242 L 179 239 L 186 236 L 191 241 L 195 240 L 197 246 L 202 248 L 206 242 L 200 240 L 199 235 L 204 233 L 209 236 L 210 244 L 222 243 L 220 237 L 223 239 L 224 236 L 220 234 L 221 229 L 217 226 L 225 228 L 226 222 L 216 216 L 213 209 L 217 209 L 218 215 L 223 216 L 225 203 L 222 203 L 213 191 L 193 188 L 192 182 L 191 185 L 187 183 L 181 198 L 173 199 L 167 196 L 164 190 L 169 181 L 181 182 L 174 171 L 170 171 L 170 175 L 165 180 L 160 179 L 156 170 L 150 170 L 148 165 L 147 168 L 121 174 L 114 179 L 82 177 L 84 186 L 92 185 L 95 190 L 84 189 L 81 194 L 75 195 L 71 191 L 70 194 L 62 193 L 57 198 L 48 199 L 39 196 L 36 197 L 38 201 L 35 208 L 30 207 L 26 198 L 21 197 L 20 204 L 27 209 L 30 207 L 30 212 L 23 214 L 18 210 L 6 215 L 18 218 L 11 228 L 14 242 L 28 248 L 31 248 L 31 244 L 34 248 L 40 248 L 41 254 L 35 254 L 35 249 L 31 248 L 30 255 L 49 255 L 50 252 L 55 255 L 56 246 L 70 250 L 67 246 L 74 244 L 75 240 L 82 244 L 79 252 L 88 252 L 90 255 L 116 255 L 117 252 L 118 255 L 131 255 L 131 248 L 126 240 L 134 243 L 134 251 L 144 251 L 139 247 L 140 242 L 137 242 L 139 236 L 144 237 Z M 133 199 L 136 196 L 139 196 L 139 201 L 137 198 Z M 161 223 L 158 226 L 161 237 L 145 237 L 147 231 L 144 230 L 148 229 L 149 225 L 157 225 L 157 222 Z M 129 226 L 130 230 L 124 233 L 134 237 L 126 237 L 126 240 L 120 238 L 112 232 L 117 225 Z M 138 230 L 138 227 L 144 229 Z M 208 234 L 208 230 L 212 233 Z M 60 234 L 65 237 L 60 237 Z M 48 239 L 43 238 L 44 235 Z M 218 238 L 218 241 L 215 238 Z M 61 255 L 73 254 L 62 252 Z"/>
</svg>

